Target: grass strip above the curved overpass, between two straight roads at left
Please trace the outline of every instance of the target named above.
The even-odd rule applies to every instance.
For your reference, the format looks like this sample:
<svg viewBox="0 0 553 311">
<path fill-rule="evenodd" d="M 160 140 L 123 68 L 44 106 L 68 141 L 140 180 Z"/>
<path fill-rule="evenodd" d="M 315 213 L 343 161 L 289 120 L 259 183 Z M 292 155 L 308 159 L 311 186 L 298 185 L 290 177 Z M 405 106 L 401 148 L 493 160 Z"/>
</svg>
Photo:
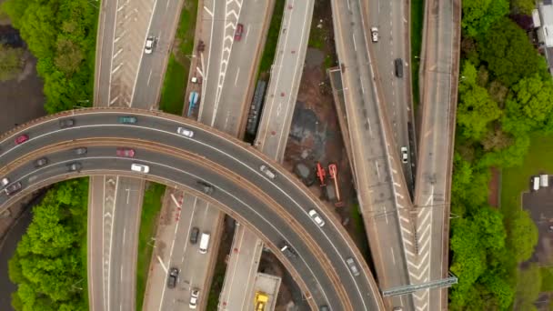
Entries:
<svg viewBox="0 0 553 311">
<path fill-rule="evenodd" d="M 166 76 L 161 90 L 159 108 L 167 113 L 182 115 L 190 59 L 194 51 L 197 1 L 186 1 L 176 29 L 175 46 L 169 56 Z"/>
</svg>

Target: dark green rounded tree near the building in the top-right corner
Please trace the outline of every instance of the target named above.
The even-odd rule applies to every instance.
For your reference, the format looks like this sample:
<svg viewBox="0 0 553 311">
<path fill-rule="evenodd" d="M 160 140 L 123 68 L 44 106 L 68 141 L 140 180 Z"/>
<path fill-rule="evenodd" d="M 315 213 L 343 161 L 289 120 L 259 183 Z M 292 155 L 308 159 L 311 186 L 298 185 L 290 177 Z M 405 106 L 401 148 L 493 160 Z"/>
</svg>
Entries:
<svg viewBox="0 0 553 311">
<path fill-rule="evenodd" d="M 545 59 L 524 30 L 507 17 L 498 20 L 478 39 L 478 52 L 490 72 L 507 86 L 536 73 L 544 79 L 548 75 Z"/>
</svg>

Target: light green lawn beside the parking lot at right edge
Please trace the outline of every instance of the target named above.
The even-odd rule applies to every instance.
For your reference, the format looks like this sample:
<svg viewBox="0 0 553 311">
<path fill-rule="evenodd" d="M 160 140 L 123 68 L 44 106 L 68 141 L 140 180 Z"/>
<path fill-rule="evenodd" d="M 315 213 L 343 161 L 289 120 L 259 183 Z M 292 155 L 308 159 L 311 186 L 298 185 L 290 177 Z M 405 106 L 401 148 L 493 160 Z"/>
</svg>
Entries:
<svg viewBox="0 0 553 311">
<path fill-rule="evenodd" d="M 503 169 L 501 212 L 509 219 L 520 206 L 520 194 L 528 191 L 530 176 L 541 171 L 553 172 L 553 136 L 530 135 L 530 147 L 522 166 Z"/>
</svg>

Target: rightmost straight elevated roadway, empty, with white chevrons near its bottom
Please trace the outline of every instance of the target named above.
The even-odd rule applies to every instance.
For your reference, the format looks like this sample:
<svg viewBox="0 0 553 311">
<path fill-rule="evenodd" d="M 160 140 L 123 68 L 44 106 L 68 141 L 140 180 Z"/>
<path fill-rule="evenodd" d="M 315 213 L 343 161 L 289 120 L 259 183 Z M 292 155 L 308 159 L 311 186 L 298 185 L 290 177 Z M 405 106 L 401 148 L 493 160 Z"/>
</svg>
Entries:
<svg viewBox="0 0 553 311">
<path fill-rule="evenodd" d="M 420 77 L 422 120 L 415 187 L 420 273 L 413 283 L 447 276 L 451 171 L 459 71 L 461 1 L 425 3 Z M 447 289 L 414 294 L 419 310 L 447 308 Z"/>
</svg>

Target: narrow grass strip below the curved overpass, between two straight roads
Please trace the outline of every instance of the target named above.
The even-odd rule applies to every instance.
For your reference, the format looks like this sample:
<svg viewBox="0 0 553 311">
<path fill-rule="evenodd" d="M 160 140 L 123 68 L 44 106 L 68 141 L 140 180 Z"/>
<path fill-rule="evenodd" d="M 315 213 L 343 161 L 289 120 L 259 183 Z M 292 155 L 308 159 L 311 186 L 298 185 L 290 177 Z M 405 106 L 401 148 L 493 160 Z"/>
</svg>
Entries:
<svg viewBox="0 0 553 311">
<path fill-rule="evenodd" d="M 150 267 L 150 259 L 154 247 L 148 245 L 151 238 L 156 236 L 156 222 L 161 209 L 161 200 L 166 191 L 166 186 L 149 184 L 144 194 L 142 215 L 140 216 L 140 231 L 138 233 L 138 258 L 136 266 L 136 310 L 142 310 L 146 279 Z"/>
</svg>

